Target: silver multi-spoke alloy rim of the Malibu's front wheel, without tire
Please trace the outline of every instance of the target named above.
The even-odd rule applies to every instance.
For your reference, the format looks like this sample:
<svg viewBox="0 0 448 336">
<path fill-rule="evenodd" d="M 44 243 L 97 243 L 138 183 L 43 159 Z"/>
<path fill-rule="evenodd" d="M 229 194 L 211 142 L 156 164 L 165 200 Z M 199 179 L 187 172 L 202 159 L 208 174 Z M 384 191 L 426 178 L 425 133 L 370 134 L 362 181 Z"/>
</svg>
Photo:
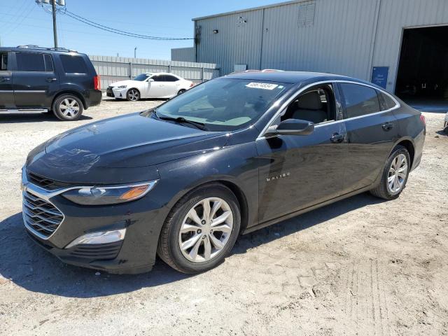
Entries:
<svg viewBox="0 0 448 336">
<path fill-rule="evenodd" d="M 179 248 L 190 262 L 207 262 L 223 251 L 233 229 L 230 205 L 219 197 L 197 202 L 183 218 Z"/>
</svg>

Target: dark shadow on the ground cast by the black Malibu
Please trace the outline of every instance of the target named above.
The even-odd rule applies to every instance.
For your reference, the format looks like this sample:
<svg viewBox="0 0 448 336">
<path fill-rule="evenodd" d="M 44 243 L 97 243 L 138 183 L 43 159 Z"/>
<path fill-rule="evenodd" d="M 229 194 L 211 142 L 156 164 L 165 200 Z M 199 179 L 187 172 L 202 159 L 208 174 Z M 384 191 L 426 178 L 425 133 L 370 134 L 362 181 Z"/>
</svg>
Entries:
<svg viewBox="0 0 448 336">
<path fill-rule="evenodd" d="M 379 202 L 382 201 L 366 194 L 351 197 L 239 237 L 232 253 L 246 253 L 248 249 L 255 246 L 266 244 L 346 212 Z M 22 213 L 10 216 L 0 222 L 0 255 L 2 259 L 0 276 L 3 278 L 32 292 L 64 297 L 87 298 L 128 293 L 140 288 L 182 281 L 190 277 L 190 275 L 174 271 L 161 260 L 157 260 L 150 273 L 137 275 L 116 275 L 106 272 L 96 275 L 97 271 L 94 269 L 66 265 L 27 237 L 22 222 Z"/>
</svg>

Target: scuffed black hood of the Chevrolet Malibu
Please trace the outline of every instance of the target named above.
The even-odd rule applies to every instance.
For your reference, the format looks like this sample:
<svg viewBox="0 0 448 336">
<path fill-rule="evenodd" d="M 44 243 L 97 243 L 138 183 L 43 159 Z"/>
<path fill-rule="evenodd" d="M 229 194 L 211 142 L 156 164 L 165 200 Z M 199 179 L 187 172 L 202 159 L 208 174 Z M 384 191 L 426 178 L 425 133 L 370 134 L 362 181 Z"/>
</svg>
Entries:
<svg viewBox="0 0 448 336">
<path fill-rule="evenodd" d="M 36 148 L 30 153 L 27 169 L 57 181 L 89 172 L 132 172 L 211 151 L 225 146 L 227 140 L 225 132 L 204 132 L 132 113 L 59 134 L 43 144 L 40 151 Z M 78 182 L 83 179 L 76 178 Z"/>
</svg>

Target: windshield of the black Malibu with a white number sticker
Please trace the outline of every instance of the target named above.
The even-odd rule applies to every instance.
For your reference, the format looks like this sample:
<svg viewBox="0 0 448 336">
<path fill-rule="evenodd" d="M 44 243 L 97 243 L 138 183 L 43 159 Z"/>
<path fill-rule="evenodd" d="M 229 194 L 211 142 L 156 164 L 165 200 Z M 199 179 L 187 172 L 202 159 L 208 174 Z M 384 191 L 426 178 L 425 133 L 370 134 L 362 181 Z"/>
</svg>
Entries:
<svg viewBox="0 0 448 336">
<path fill-rule="evenodd" d="M 193 87 L 156 109 L 158 118 L 185 118 L 210 131 L 254 123 L 290 84 L 219 78 Z"/>
</svg>

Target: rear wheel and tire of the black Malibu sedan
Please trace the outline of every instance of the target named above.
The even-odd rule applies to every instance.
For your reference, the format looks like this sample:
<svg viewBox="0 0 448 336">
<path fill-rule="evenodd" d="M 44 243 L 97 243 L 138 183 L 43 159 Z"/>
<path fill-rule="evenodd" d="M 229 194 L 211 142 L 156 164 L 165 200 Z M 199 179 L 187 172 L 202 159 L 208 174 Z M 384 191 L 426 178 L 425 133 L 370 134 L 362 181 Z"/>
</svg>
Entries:
<svg viewBox="0 0 448 336">
<path fill-rule="evenodd" d="M 400 145 L 396 146 L 384 166 L 379 185 L 370 190 L 370 193 L 384 200 L 398 198 L 405 189 L 410 162 L 407 148 Z"/>
</svg>

